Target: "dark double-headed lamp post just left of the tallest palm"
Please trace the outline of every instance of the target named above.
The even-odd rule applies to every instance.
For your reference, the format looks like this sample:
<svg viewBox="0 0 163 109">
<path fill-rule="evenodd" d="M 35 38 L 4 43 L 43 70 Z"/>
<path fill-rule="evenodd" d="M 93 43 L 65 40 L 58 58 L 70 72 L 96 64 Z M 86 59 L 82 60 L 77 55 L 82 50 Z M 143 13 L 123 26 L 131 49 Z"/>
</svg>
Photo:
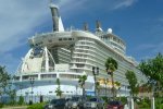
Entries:
<svg viewBox="0 0 163 109">
<path fill-rule="evenodd" d="M 93 80 L 95 80 L 95 96 L 97 96 L 97 78 L 96 78 L 96 75 L 99 75 L 99 68 L 98 66 L 92 66 L 92 74 L 93 74 Z"/>
</svg>

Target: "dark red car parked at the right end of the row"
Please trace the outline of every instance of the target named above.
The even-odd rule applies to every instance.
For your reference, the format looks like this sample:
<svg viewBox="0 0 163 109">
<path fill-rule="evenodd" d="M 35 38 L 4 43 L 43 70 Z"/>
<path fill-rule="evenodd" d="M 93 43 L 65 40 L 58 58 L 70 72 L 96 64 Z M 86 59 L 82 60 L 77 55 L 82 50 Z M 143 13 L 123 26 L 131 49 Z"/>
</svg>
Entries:
<svg viewBox="0 0 163 109">
<path fill-rule="evenodd" d="M 121 101 L 110 101 L 106 109 L 124 109 L 124 105 Z"/>
</svg>

